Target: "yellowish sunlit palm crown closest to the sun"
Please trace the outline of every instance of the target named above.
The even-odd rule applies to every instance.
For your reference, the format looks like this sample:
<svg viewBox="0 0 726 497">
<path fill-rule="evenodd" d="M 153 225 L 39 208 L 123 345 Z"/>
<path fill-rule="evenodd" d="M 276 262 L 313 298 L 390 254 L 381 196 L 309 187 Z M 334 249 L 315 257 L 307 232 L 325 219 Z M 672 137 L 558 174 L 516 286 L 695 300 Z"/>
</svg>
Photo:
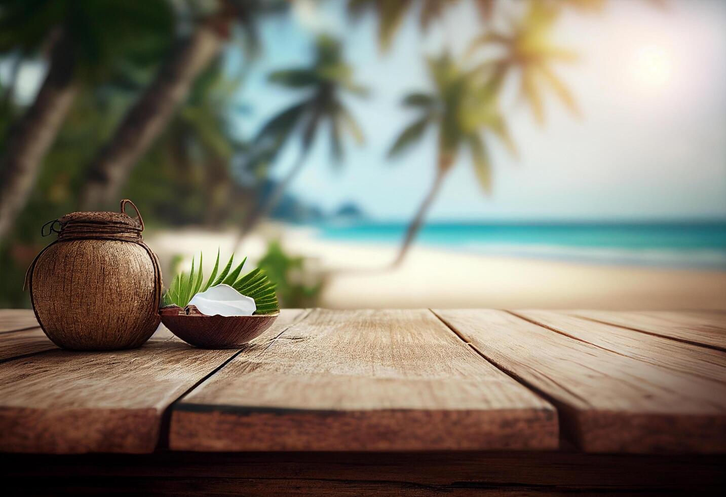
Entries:
<svg viewBox="0 0 726 497">
<path fill-rule="evenodd" d="M 517 73 L 521 96 L 539 124 L 544 123 L 542 92 L 545 88 L 551 89 L 566 108 L 578 115 L 574 96 L 552 69 L 555 62 L 574 62 L 577 54 L 554 44 L 552 31 L 563 5 L 595 9 L 602 4 L 600 0 L 568 0 L 567 3 L 530 0 L 525 15 L 516 20 L 509 30 L 485 32 L 472 41 L 469 52 L 480 47 L 503 49 L 499 57 L 486 60 L 478 70 L 497 87 L 507 75 Z"/>
</svg>

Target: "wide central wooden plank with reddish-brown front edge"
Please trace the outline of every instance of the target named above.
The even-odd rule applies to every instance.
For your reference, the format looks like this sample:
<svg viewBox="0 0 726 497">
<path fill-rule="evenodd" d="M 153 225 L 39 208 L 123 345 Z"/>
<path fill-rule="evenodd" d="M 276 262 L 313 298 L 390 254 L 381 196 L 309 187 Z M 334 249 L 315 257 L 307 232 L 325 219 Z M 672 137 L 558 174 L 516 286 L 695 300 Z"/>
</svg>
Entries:
<svg viewBox="0 0 726 497">
<path fill-rule="evenodd" d="M 557 445 L 552 406 L 428 310 L 315 310 L 174 405 L 169 435 L 175 450 Z"/>
</svg>

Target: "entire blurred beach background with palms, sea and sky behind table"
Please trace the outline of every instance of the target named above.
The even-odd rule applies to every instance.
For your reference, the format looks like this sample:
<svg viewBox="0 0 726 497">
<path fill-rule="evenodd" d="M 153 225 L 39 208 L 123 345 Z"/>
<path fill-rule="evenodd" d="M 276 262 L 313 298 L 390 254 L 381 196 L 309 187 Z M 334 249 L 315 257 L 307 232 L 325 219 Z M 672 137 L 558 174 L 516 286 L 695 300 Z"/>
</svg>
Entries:
<svg viewBox="0 0 726 497">
<path fill-rule="evenodd" d="M 285 307 L 726 309 L 726 2 L 25 3 L 0 307 L 127 198 L 167 284 L 219 248 Z"/>
</svg>

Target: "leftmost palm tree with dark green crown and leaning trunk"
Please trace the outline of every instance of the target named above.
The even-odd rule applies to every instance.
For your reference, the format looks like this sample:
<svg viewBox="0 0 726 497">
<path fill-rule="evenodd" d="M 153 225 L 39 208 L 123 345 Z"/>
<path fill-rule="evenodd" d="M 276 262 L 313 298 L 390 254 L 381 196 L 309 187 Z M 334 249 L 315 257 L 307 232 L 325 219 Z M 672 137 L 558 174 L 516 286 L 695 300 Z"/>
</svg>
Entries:
<svg viewBox="0 0 726 497">
<path fill-rule="evenodd" d="M 132 28 L 133 26 L 133 28 Z M 2 0 L 0 52 L 45 52 L 48 72 L 12 126 L 0 156 L 0 237 L 28 201 L 38 168 L 80 87 L 107 78 L 136 49 L 157 50 L 173 31 L 164 0 Z"/>
</svg>

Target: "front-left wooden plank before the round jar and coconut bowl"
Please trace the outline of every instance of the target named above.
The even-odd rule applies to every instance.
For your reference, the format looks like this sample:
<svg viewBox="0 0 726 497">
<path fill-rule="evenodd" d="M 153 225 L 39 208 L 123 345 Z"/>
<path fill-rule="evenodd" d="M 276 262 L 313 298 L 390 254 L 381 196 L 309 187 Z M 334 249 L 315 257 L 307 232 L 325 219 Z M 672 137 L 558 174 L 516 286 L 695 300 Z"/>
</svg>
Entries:
<svg viewBox="0 0 726 497">
<path fill-rule="evenodd" d="M 283 312 L 273 328 L 298 315 Z M 57 350 L 4 363 L 0 451 L 151 452 L 168 405 L 238 352 L 162 335 L 139 349 Z"/>
</svg>

